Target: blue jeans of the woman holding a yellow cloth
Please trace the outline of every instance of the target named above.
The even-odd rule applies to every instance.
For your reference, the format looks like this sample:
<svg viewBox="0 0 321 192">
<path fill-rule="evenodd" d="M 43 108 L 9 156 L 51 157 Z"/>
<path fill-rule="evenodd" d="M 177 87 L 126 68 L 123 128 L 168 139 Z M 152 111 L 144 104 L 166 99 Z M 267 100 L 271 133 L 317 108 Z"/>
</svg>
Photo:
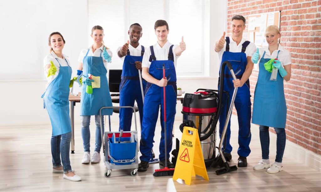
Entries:
<svg viewBox="0 0 321 192">
<path fill-rule="evenodd" d="M 83 149 L 85 152 L 90 152 L 90 117 L 91 116 L 81 116 L 81 133 L 83 141 Z M 101 148 L 101 131 L 100 131 L 100 117 L 95 115 L 96 124 L 96 139 L 95 139 L 95 151 L 100 152 Z M 104 132 L 104 116 L 102 116 L 102 130 Z"/>
</svg>

